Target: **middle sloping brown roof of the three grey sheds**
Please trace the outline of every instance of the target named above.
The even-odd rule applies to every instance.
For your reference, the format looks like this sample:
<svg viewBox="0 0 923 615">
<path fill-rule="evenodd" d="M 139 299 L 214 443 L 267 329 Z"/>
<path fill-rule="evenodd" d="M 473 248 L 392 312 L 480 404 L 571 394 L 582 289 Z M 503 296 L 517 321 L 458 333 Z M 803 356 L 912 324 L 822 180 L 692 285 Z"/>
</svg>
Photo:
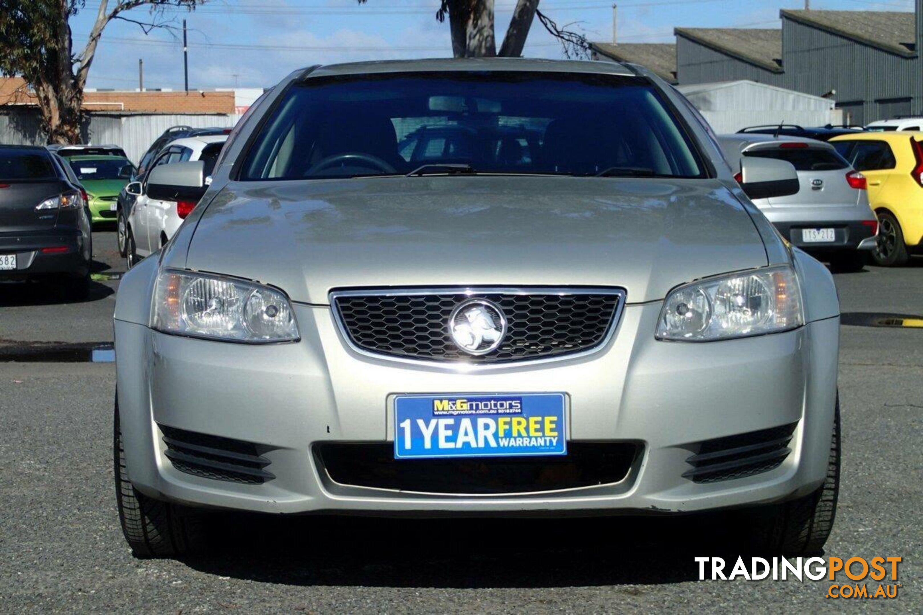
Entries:
<svg viewBox="0 0 923 615">
<path fill-rule="evenodd" d="M 782 30 L 677 28 L 674 33 L 773 73 L 782 72 Z"/>
</svg>

